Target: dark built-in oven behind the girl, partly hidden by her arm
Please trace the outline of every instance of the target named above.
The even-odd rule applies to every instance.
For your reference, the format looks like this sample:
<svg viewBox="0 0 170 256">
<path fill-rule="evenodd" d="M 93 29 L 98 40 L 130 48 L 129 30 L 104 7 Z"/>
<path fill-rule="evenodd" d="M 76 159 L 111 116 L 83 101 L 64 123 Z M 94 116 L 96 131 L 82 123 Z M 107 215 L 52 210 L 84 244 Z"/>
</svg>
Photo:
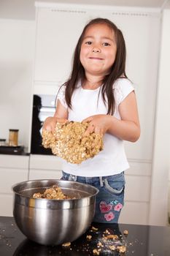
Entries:
<svg viewBox="0 0 170 256">
<path fill-rule="evenodd" d="M 54 116 L 55 96 L 34 94 L 31 128 L 31 154 L 52 154 L 50 148 L 42 146 L 42 126 L 45 118 Z"/>
</svg>

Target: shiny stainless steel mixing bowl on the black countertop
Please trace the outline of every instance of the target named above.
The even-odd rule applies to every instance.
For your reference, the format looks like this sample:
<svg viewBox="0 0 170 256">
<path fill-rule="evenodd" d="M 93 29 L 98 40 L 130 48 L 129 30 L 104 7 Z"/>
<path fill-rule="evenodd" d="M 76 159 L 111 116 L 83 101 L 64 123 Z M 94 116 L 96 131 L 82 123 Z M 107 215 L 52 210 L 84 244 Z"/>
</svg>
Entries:
<svg viewBox="0 0 170 256">
<path fill-rule="evenodd" d="M 33 198 L 57 185 L 64 194 L 76 199 Z M 61 180 L 23 181 L 12 187 L 13 215 L 20 231 L 32 241 L 44 245 L 72 242 L 90 226 L 95 212 L 98 189 L 87 184 Z"/>
</svg>

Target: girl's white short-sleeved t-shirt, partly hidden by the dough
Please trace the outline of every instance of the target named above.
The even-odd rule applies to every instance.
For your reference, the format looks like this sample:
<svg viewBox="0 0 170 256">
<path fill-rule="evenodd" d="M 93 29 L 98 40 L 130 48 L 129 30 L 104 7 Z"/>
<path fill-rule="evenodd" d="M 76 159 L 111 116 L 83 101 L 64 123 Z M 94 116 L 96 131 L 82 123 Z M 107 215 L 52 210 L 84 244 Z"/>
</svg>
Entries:
<svg viewBox="0 0 170 256">
<path fill-rule="evenodd" d="M 128 79 L 119 78 L 114 83 L 113 89 L 115 96 L 115 113 L 113 116 L 120 119 L 118 106 L 131 91 L 134 91 L 134 87 Z M 82 121 L 88 118 L 88 116 L 107 114 L 107 105 L 104 105 L 101 91 L 98 97 L 99 91 L 100 87 L 98 89 L 88 90 L 82 89 L 81 85 L 77 86 L 77 89 L 72 95 L 71 110 L 66 105 L 65 86 L 62 86 L 58 93 L 58 99 L 61 104 L 67 108 L 69 121 Z M 63 160 L 63 171 L 75 176 L 110 176 L 121 173 L 123 170 L 128 169 L 128 167 L 123 140 L 107 133 L 104 135 L 104 149 L 95 157 L 87 159 L 79 165 L 71 164 Z"/>
</svg>

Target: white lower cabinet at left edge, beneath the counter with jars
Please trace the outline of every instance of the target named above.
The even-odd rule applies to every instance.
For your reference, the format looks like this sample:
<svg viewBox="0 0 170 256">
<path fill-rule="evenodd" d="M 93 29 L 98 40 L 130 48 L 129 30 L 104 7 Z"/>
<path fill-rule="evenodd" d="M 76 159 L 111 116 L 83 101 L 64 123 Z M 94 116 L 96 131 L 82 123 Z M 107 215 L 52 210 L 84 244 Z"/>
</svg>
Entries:
<svg viewBox="0 0 170 256">
<path fill-rule="evenodd" d="M 0 215 L 12 216 L 12 186 L 28 180 L 29 156 L 0 154 Z"/>
</svg>

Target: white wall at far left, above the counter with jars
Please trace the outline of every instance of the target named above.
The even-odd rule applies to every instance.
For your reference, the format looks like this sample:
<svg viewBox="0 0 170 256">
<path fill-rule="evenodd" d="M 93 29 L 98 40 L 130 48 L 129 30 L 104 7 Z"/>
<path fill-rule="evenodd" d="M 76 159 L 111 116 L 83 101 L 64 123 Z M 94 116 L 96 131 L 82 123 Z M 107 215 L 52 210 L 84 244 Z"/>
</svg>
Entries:
<svg viewBox="0 0 170 256">
<path fill-rule="evenodd" d="M 0 19 L 0 138 L 19 129 L 28 147 L 35 44 L 34 20 Z"/>
</svg>

